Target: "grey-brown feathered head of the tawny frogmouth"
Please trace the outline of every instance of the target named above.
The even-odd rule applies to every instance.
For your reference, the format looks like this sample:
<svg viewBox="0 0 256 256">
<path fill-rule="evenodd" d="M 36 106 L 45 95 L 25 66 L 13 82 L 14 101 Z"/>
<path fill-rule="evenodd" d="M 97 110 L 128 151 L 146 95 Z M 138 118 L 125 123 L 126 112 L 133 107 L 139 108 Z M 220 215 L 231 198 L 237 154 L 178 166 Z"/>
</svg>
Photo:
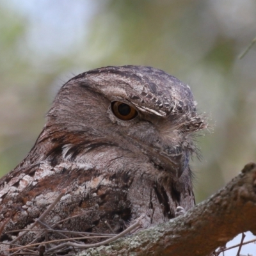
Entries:
<svg viewBox="0 0 256 256">
<path fill-rule="evenodd" d="M 195 105 L 189 86 L 162 70 L 98 68 L 64 84 L 38 143 L 50 140 L 48 159 L 60 154 L 113 171 L 140 162 L 180 177 L 193 134 L 205 127 Z"/>
</svg>

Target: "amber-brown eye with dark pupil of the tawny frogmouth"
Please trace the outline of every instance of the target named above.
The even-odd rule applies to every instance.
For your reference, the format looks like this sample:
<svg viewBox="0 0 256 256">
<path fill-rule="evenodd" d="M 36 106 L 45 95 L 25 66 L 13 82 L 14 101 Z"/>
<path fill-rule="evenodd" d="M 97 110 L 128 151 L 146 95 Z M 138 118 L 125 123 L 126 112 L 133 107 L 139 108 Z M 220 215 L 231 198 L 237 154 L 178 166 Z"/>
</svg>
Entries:
<svg viewBox="0 0 256 256">
<path fill-rule="evenodd" d="M 111 103 L 113 114 L 124 121 L 132 120 L 138 115 L 136 109 L 121 101 L 114 101 Z"/>
</svg>

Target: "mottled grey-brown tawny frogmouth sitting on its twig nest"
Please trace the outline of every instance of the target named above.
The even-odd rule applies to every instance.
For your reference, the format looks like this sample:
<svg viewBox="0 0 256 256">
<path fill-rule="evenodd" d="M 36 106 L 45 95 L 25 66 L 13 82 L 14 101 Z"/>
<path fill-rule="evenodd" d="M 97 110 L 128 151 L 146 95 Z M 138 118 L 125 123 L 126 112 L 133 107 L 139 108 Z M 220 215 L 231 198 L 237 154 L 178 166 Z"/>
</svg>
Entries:
<svg viewBox="0 0 256 256">
<path fill-rule="evenodd" d="M 53 229 L 118 234 L 142 214 L 148 228 L 188 211 L 189 159 L 206 125 L 189 86 L 163 70 L 109 66 L 73 77 L 31 151 L 0 179 L 0 241 L 44 241 L 31 225 L 61 193 L 44 218 Z"/>
</svg>

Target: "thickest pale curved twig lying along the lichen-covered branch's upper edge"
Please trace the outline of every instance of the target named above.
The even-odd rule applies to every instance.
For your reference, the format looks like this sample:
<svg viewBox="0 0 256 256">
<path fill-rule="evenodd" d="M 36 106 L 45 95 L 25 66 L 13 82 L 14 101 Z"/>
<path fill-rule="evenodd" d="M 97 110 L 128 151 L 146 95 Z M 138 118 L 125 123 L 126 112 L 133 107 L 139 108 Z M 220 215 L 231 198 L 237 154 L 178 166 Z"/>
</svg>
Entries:
<svg viewBox="0 0 256 256">
<path fill-rule="evenodd" d="M 129 232 L 134 230 L 134 228 L 140 226 L 141 225 L 141 220 L 143 218 L 145 218 L 144 215 L 140 216 L 140 218 L 138 218 L 138 220 L 133 225 L 131 225 L 129 228 L 125 229 L 120 234 L 117 234 L 116 236 L 111 237 L 111 238 L 109 238 L 109 239 L 107 239 L 105 241 L 102 241 L 100 243 L 95 243 L 95 244 L 77 244 L 77 243 L 67 242 L 67 243 L 59 244 L 59 245 L 51 248 L 50 250 L 47 251 L 47 253 L 54 252 L 54 250 L 57 250 L 57 249 L 60 249 L 60 248 L 66 247 L 66 246 L 74 246 L 75 248 L 86 249 L 86 248 L 92 248 L 92 247 L 97 247 L 97 246 L 109 244 L 109 243 L 115 241 L 116 239 L 124 236 L 125 234 L 128 234 Z"/>
</svg>

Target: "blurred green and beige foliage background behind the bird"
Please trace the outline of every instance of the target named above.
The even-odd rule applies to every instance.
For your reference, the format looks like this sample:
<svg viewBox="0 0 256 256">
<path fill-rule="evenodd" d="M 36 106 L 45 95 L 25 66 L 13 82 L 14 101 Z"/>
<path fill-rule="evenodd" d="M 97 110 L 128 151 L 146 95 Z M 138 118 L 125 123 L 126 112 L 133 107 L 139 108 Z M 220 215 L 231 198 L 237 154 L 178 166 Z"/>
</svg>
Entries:
<svg viewBox="0 0 256 256">
<path fill-rule="evenodd" d="M 209 128 L 196 138 L 196 200 L 256 161 L 255 1 L 0 1 L 0 172 L 26 156 L 73 75 L 149 65 L 188 83 Z"/>
</svg>

